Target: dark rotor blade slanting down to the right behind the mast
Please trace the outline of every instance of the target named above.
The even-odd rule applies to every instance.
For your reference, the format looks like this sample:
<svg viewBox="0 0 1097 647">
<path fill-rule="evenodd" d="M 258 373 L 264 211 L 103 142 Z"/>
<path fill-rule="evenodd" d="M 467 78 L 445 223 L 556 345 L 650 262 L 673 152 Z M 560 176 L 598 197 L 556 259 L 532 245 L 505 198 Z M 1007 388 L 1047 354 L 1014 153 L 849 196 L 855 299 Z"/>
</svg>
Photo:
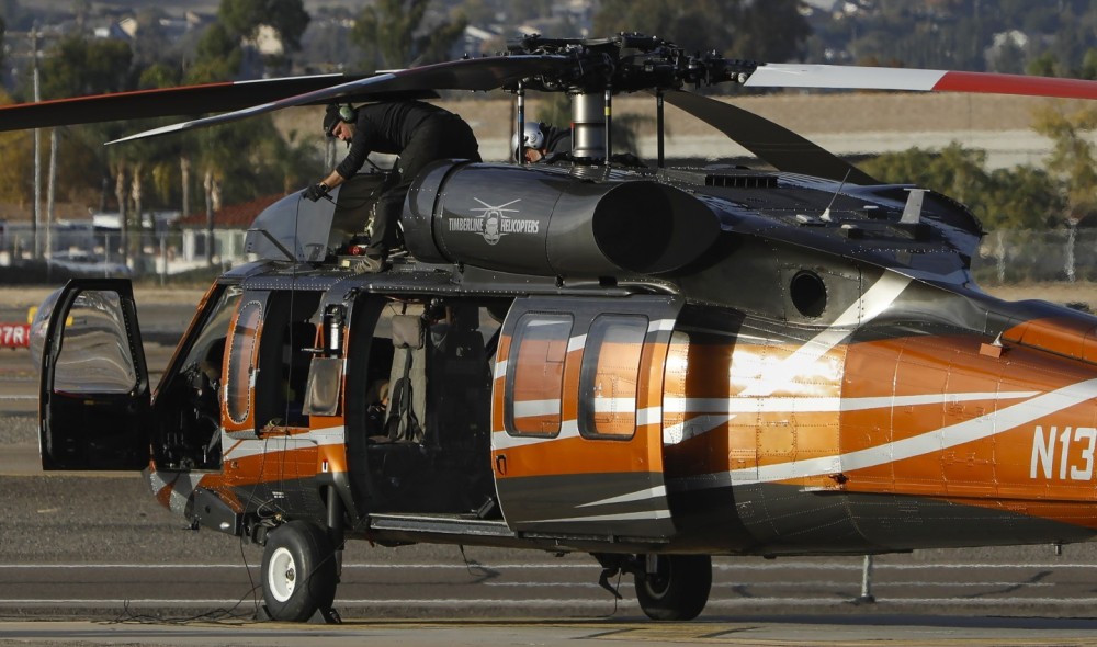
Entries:
<svg viewBox="0 0 1097 647">
<path fill-rule="evenodd" d="M 682 91 L 667 92 L 665 100 L 727 135 L 779 171 L 855 184 L 880 184 L 875 178 L 817 144 L 742 107 Z"/>
</svg>

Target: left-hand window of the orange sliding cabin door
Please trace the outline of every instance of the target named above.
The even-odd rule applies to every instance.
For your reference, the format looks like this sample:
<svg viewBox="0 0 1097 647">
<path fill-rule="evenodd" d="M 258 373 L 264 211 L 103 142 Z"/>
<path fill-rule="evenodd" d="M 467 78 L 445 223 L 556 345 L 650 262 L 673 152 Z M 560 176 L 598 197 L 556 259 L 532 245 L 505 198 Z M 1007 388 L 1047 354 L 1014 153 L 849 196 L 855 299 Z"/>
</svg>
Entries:
<svg viewBox="0 0 1097 647">
<path fill-rule="evenodd" d="M 572 334 L 569 315 L 528 313 L 514 328 L 518 349 L 508 370 L 512 401 L 507 430 L 513 434 L 555 435 L 561 427 L 564 361 Z"/>
</svg>

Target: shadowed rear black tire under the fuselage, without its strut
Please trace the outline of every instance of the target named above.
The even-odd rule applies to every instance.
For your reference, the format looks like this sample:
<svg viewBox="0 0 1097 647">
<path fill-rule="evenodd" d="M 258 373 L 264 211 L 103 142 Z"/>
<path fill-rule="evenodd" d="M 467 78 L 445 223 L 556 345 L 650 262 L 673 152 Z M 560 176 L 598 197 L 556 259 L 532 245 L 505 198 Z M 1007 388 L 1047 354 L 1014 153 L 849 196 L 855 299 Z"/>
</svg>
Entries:
<svg viewBox="0 0 1097 647">
<path fill-rule="evenodd" d="M 640 556 L 641 560 L 644 556 Z M 712 589 L 712 557 L 658 555 L 655 572 L 636 576 L 636 599 L 647 617 L 693 620 L 704 609 Z"/>
</svg>

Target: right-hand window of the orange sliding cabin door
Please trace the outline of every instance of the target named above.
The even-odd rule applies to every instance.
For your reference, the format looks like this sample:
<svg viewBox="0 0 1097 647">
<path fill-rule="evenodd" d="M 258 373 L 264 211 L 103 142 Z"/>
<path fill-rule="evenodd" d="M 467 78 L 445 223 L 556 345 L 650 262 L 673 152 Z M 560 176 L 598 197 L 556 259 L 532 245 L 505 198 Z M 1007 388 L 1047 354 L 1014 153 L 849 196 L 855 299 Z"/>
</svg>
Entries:
<svg viewBox="0 0 1097 647">
<path fill-rule="evenodd" d="M 579 432 L 586 436 L 632 438 L 636 432 L 636 387 L 647 318 L 603 315 L 587 332 L 579 372 Z"/>
</svg>

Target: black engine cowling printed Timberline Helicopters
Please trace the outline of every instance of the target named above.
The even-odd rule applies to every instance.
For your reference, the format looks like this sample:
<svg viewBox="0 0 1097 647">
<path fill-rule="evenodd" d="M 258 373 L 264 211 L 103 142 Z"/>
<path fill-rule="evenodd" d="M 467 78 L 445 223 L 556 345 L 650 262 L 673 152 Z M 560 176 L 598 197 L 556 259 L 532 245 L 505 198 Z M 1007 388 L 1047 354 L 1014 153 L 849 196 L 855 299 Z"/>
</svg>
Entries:
<svg viewBox="0 0 1097 647">
<path fill-rule="evenodd" d="M 541 276 L 671 272 L 720 234 L 701 201 L 651 179 L 453 161 L 419 174 L 404 218 L 422 261 Z"/>
</svg>

